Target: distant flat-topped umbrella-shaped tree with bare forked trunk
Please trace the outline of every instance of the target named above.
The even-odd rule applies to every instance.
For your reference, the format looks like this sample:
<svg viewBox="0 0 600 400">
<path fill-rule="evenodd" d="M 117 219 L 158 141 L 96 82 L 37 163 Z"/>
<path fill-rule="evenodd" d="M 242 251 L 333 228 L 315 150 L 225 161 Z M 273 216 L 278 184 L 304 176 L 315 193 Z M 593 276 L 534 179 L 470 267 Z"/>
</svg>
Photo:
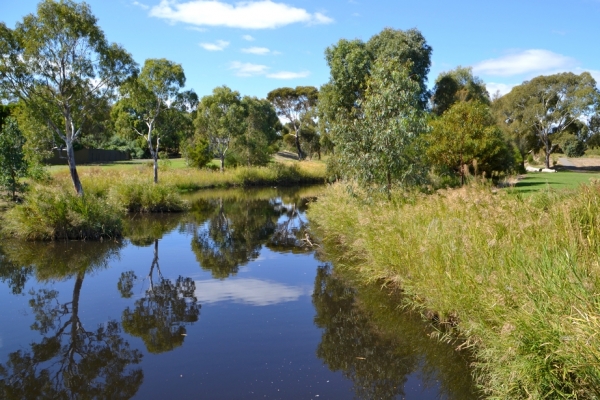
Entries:
<svg viewBox="0 0 600 400">
<path fill-rule="evenodd" d="M 298 160 L 306 156 L 301 146 L 301 132 L 305 122 L 315 111 L 319 91 L 314 86 L 297 86 L 295 89 L 283 87 L 270 91 L 267 99 L 273 104 L 277 115 L 289 121 L 293 128 L 294 143 L 298 152 Z"/>
</svg>

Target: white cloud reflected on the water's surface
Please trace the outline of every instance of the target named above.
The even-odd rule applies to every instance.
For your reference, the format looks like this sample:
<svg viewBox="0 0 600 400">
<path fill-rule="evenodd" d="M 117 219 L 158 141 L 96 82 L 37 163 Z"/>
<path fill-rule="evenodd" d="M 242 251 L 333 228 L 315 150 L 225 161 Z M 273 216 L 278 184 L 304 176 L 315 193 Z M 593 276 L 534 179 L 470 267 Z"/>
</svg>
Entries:
<svg viewBox="0 0 600 400">
<path fill-rule="evenodd" d="M 286 286 L 259 279 L 228 279 L 196 281 L 195 295 L 201 304 L 233 301 L 252 306 L 268 306 L 296 301 L 305 292 L 306 290 L 298 286 Z"/>
</svg>

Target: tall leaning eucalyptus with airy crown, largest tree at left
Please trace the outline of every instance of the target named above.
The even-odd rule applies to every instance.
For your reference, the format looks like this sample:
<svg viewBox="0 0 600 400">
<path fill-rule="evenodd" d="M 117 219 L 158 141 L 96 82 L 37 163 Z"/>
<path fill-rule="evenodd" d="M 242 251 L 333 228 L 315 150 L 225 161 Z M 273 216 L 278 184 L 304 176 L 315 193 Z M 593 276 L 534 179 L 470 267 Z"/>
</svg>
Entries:
<svg viewBox="0 0 600 400">
<path fill-rule="evenodd" d="M 0 91 L 20 99 L 62 142 L 73 186 L 83 195 L 73 144 L 90 115 L 136 70 L 107 42 L 86 3 L 43 0 L 15 29 L 0 23 Z"/>
</svg>

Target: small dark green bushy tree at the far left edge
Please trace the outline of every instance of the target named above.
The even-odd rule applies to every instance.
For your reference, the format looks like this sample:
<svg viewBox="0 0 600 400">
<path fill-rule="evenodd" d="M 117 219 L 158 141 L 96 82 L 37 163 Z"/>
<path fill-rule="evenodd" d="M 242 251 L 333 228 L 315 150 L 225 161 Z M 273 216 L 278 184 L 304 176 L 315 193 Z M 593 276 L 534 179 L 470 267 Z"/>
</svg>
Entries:
<svg viewBox="0 0 600 400">
<path fill-rule="evenodd" d="M 17 121 L 12 117 L 6 118 L 0 126 L 0 187 L 10 193 L 13 201 L 17 200 L 17 193 L 23 192 L 24 185 L 20 179 L 27 175 L 24 143 Z"/>
</svg>

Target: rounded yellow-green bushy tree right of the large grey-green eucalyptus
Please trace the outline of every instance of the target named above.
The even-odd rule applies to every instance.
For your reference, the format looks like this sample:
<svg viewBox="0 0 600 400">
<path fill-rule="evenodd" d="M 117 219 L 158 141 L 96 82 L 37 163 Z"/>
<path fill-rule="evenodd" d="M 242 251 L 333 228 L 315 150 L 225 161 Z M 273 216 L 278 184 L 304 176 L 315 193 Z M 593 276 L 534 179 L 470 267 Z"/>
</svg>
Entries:
<svg viewBox="0 0 600 400">
<path fill-rule="evenodd" d="M 465 166 L 474 173 L 485 172 L 488 177 L 513 168 L 513 153 L 489 107 L 483 103 L 455 103 L 441 117 L 432 120 L 431 128 L 427 157 L 433 165 L 452 170 L 462 183 Z"/>
</svg>

